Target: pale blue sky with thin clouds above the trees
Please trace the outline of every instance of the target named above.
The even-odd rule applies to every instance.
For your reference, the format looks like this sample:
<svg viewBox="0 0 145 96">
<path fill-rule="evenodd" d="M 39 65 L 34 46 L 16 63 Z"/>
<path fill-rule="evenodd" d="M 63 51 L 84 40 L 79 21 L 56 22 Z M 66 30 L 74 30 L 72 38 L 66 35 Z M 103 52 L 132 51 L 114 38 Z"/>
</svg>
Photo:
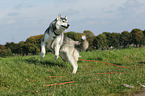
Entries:
<svg viewBox="0 0 145 96">
<path fill-rule="evenodd" d="M 145 30 L 145 0 L 0 0 L 0 44 L 44 34 L 59 13 L 68 17 L 66 32 Z"/>
</svg>

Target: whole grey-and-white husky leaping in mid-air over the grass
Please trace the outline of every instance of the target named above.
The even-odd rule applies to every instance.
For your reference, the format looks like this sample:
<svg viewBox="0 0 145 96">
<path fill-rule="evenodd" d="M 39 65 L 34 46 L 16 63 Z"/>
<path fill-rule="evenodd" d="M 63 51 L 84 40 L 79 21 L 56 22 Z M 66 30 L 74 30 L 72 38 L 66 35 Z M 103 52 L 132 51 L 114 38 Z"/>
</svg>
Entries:
<svg viewBox="0 0 145 96">
<path fill-rule="evenodd" d="M 67 17 L 62 18 L 58 14 L 57 18 L 52 21 L 44 33 L 44 36 L 41 40 L 41 54 L 40 57 L 45 56 L 45 43 L 47 43 L 47 48 L 49 50 L 54 49 L 55 56 L 57 59 L 59 53 L 61 58 L 65 62 L 70 62 L 73 66 L 73 74 L 77 72 L 78 68 L 78 58 L 80 50 L 86 50 L 89 46 L 86 36 L 82 36 L 82 41 L 74 41 L 71 38 L 65 37 L 63 32 L 68 29 L 70 25 L 68 24 Z"/>
</svg>

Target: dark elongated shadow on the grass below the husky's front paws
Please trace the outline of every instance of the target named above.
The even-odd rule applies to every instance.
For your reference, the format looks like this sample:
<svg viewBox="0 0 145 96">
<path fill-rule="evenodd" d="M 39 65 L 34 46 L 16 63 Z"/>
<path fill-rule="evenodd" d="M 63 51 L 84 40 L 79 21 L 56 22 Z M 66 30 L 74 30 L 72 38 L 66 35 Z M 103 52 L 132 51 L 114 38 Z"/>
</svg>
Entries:
<svg viewBox="0 0 145 96">
<path fill-rule="evenodd" d="M 59 67 L 64 67 L 64 65 L 61 62 L 54 62 L 49 61 L 49 60 L 40 60 L 38 58 L 29 58 L 29 59 L 24 59 L 24 62 L 27 62 L 28 64 L 34 64 L 34 65 L 44 65 L 44 66 L 59 66 Z"/>
</svg>

